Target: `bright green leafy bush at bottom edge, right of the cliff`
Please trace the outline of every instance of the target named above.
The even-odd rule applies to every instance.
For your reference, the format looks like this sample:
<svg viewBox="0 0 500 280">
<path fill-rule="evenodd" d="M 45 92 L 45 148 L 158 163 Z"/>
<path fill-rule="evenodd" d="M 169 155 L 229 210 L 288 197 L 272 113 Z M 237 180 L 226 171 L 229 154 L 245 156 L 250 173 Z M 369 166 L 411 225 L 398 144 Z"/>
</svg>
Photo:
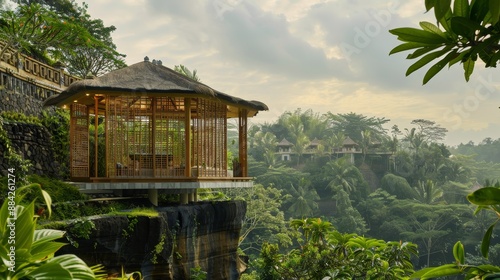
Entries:
<svg viewBox="0 0 500 280">
<path fill-rule="evenodd" d="M 280 253 L 265 243 L 257 263 L 260 279 L 402 279 L 413 273 L 415 244 L 342 234 L 319 218 L 293 220 L 298 249 Z"/>
</svg>

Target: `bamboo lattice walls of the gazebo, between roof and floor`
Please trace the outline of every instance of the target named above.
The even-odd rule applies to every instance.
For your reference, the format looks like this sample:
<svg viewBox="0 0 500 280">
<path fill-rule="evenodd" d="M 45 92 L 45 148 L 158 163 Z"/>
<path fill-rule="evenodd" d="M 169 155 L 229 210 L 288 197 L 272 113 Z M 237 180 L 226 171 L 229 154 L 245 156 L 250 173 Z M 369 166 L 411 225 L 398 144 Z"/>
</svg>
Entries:
<svg viewBox="0 0 500 280">
<path fill-rule="evenodd" d="M 216 100 L 99 95 L 94 106 L 75 103 L 71 110 L 72 177 L 88 177 L 92 166 L 97 178 L 228 176 L 227 107 Z M 105 119 L 97 136 L 105 149 L 93 140 L 91 163 L 89 112 Z"/>
</svg>

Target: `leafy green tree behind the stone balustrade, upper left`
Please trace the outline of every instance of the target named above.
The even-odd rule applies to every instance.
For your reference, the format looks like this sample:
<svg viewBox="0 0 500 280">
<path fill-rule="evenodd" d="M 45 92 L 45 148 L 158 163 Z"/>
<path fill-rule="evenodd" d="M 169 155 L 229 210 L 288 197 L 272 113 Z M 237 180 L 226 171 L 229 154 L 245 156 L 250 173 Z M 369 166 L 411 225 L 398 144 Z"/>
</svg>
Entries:
<svg viewBox="0 0 500 280">
<path fill-rule="evenodd" d="M 92 20 L 87 6 L 73 1 L 19 1 L 0 10 L 0 56 L 9 48 L 47 64 L 62 63 L 80 77 L 102 75 L 125 66 L 111 32 L 102 20 Z"/>
</svg>

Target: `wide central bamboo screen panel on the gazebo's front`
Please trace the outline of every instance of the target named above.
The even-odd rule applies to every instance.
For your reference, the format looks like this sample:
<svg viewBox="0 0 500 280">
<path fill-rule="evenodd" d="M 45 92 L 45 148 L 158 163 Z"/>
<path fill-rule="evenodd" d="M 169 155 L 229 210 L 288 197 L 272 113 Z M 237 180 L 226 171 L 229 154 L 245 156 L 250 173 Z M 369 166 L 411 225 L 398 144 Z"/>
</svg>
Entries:
<svg viewBox="0 0 500 280">
<path fill-rule="evenodd" d="M 109 177 L 184 176 L 184 101 L 171 97 L 109 97 Z"/>
</svg>

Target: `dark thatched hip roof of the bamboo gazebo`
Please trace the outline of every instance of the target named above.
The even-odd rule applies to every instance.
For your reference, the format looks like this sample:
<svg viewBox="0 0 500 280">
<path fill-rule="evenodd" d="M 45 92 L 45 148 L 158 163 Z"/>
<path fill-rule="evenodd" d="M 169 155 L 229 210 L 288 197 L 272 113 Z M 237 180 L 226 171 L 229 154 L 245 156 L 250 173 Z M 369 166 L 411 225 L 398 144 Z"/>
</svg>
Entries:
<svg viewBox="0 0 500 280">
<path fill-rule="evenodd" d="M 85 79 L 72 83 L 65 91 L 48 98 L 44 106 L 70 104 L 75 97 L 89 92 L 111 92 L 120 94 L 181 94 L 215 97 L 237 107 L 248 107 L 255 111 L 266 111 L 268 107 L 259 101 L 248 101 L 217 91 L 196 82 L 165 66 L 149 61 L 109 72 L 95 79 Z"/>
</svg>

